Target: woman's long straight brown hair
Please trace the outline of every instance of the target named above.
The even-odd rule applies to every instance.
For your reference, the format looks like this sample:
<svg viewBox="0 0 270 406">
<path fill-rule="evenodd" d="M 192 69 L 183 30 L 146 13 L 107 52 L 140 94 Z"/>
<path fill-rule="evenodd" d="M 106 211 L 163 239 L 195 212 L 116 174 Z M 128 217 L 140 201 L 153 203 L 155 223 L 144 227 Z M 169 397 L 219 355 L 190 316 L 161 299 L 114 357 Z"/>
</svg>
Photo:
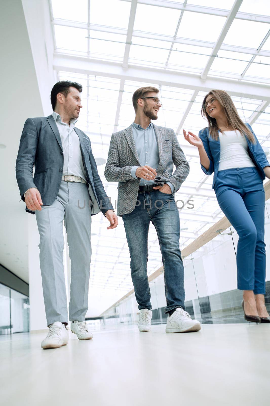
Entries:
<svg viewBox="0 0 270 406">
<path fill-rule="evenodd" d="M 239 130 L 242 136 L 246 135 L 251 143 L 255 144 L 256 140 L 254 135 L 252 134 L 251 130 L 249 130 L 249 127 L 247 127 L 245 123 L 243 123 L 243 121 L 240 119 L 236 107 L 234 106 L 234 102 L 231 100 L 231 97 L 228 95 L 228 93 L 224 90 L 211 90 L 209 93 L 207 93 L 202 102 L 201 115 L 208 121 L 209 135 L 216 141 L 219 139 L 219 127 L 216 123 L 216 119 L 210 117 L 210 115 L 203 108 L 207 97 L 210 95 L 213 95 L 221 105 L 221 108 L 226 115 L 228 125 L 233 127 L 234 130 Z"/>
</svg>

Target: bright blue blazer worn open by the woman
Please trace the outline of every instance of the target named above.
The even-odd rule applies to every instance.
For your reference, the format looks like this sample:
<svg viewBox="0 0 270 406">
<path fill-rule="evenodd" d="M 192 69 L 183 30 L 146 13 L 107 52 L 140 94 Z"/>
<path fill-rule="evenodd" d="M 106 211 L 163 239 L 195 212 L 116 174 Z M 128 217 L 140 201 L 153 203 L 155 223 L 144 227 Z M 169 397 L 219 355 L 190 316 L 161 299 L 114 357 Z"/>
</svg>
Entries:
<svg viewBox="0 0 270 406">
<path fill-rule="evenodd" d="M 247 127 L 251 130 L 252 134 L 255 137 L 256 143 L 253 144 L 251 141 L 247 138 L 246 140 L 248 143 L 248 153 L 249 156 L 252 159 L 252 162 L 254 165 L 257 167 L 259 174 L 261 175 L 262 179 L 265 179 L 265 173 L 264 173 L 264 167 L 265 166 L 270 166 L 266 154 L 264 150 L 261 147 L 261 144 L 257 140 L 257 137 L 255 136 L 251 125 L 248 123 L 245 123 Z M 215 182 L 216 182 L 216 175 L 219 171 L 219 158 L 220 158 L 220 143 L 219 139 L 216 141 L 214 140 L 211 136 L 209 136 L 209 127 L 204 128 L 203 130 L 199 131 L 199 138 L 201 138 L 203 144 L 204 144 L 204 149 L 206 150 L 207 156 L 210 160 L 210 166 L 208 171 L 206 171 L 206 168 L 201 165 L 201 169 L 206 173 L 206 175 L 212 175 L 214 172 L 214 179 L 213 179 L 213 184 L 212 184 L 212 189 L 214 189 Z"/>
</svg>

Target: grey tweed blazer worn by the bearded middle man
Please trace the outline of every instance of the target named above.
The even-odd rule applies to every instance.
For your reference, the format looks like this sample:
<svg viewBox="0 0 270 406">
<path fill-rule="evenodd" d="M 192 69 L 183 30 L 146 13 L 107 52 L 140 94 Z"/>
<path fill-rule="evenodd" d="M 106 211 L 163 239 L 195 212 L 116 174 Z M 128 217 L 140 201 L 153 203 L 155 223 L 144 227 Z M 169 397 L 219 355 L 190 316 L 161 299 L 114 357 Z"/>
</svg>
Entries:
<svg viewBox="0 0 270 406">
<path fill-rule="evenodd" d="M 174 130 L 154 125 L 159 148 L 159 183 L 167 181 L 174 185 L 175 191 L 180 188 L 189 174 L 189 164 L 180 148 Z M 173 173 L 174 164 L 176 170 Z M 109 155 L 105 166 L 105 178 L 118 183 L 117 215 L 131 213 L 137 201 L 140 179 L 131 176 L 131 168 L 141 166 L 132 133 L 132 125 L 111 136 Z"/>
</svg>

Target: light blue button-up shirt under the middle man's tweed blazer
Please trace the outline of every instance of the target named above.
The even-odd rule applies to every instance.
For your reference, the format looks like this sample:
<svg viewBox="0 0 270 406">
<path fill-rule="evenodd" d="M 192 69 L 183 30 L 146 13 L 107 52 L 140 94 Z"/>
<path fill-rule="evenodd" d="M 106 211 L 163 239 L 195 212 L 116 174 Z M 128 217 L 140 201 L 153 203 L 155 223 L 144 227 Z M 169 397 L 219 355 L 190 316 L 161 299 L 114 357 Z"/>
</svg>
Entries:
<svg viewBox="0 0 270 406">
<path fill-rule="evenodd" d="M 148 165 L 153 169 L 157 169 L 159 166 L 159 148 L 153 124 L 150 123 L 148 127 L 144 129 L 139 124 L 132 123 L 132 133 L 141 166 Z M 133 166 L 131 169 L 131 176 L 134 179 L 138 179 L 135 175 L 137 168 L 139 168 L 139 166 Z M 153 180 L 141 178 L 140 186 L 152 185 L 154 183 Z M 156 183 L 159 182 L 157 181 Z M 171 184 L 171 182 L 166 182 L 166 184 L 169 185 L 171 193 L 173 193 L 174 185 Z"/>
</svg>

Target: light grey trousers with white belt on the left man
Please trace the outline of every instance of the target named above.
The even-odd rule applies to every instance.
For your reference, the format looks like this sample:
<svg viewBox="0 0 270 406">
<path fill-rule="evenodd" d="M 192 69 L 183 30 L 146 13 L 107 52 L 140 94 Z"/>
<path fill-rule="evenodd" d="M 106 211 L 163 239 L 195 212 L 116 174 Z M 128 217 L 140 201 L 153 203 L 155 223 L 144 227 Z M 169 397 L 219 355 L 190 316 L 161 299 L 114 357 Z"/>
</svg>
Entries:
<svg viewBox="0 0 270 406">
<path fill-rule="evenodd" d="M 84 321 L 88 310 L 91 261 L 91 207 L 88 187 L 61 181 L 54 203 L 36 210 L 40 235 L 40 268 L 47 326 L 58 321 Z M 71 259 L 69 317 L 63 265 L 63 220 Z"/>
</svg>

